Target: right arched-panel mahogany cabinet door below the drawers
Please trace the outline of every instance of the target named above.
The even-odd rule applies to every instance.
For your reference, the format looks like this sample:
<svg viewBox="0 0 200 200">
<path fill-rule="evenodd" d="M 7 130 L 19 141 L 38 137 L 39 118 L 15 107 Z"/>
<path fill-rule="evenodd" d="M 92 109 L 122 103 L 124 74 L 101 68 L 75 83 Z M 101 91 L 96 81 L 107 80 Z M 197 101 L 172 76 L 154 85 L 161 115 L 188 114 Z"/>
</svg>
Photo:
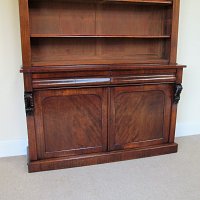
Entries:
<svg viewBox="0 0 200 200">
<path fill-rule="evenodd" d="M 111 89 L 109 150 L 167 143 L 173 84 Z"/>
</svg>

